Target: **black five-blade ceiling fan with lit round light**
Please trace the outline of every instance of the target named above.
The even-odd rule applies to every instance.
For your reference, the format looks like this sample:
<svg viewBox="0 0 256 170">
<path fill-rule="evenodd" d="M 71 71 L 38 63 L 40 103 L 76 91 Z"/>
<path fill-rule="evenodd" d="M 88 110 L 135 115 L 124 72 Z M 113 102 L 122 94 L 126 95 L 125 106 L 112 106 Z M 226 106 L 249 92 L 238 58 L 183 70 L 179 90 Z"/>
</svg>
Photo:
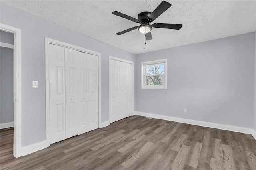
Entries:
<svg viewBox="0 0 256 170">
<path fill-rule="evenodd" d="M 141 12 L 140 14 L 138 14 L 138 19 L 133 18 L 131 16 L 128 16 L 128 15 L 123 14 L 118 11 L 112 12 L 112 14 L 114 14 L 116 16 L 126 18 L 126 19 L 131 20 L 136 23 L 140 23 L 140 26 L 132 27 L 127 30 L 118 32 L 116 34 L 121 35 L 126 32 L 138 29 L 142 34 L 145 34 L 146 40 L 152 40 L 152 35 L 150 32 L 152 30 L 152 27 L 180 30 L 180 28 L 182 27 L 182 24 L 154 23 L 154 24 L 150 25 L 150 23 L 152 21 L 154 21 L 156 18 L 158 18 L 158 16 L 160 16 L 162 13 L 164 13 L 171 6 L 172 5 L 169 2 L 163 1 L 163 2 L 161 2 L 161 4 L 158 5 L 158 7 L 156 7 L 156 9 L 152 13 L 151 12 Z"/>
</svg>

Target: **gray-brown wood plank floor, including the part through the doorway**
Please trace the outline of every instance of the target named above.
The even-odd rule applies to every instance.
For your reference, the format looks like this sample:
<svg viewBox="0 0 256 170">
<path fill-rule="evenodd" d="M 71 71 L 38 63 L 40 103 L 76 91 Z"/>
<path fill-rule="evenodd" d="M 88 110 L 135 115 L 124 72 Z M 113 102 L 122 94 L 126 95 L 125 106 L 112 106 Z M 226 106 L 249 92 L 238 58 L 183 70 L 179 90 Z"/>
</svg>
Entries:
<svg viewBox="0 0 256 170">
<path fill-rule="evenodd" d="M 14 158 L 13 128 L 0 130 L 1 169 L 256 170 L 249 134 L 133 116 Z"/>
</svg>

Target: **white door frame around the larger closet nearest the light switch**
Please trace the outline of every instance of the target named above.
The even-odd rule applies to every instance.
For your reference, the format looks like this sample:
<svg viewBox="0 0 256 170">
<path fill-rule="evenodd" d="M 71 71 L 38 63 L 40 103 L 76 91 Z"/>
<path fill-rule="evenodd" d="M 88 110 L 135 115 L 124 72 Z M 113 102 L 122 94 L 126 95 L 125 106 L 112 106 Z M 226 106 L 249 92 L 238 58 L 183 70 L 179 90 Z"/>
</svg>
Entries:
<svg viewBox="0 0 256 170">
<path fill-rule="evenodd" d="M 49 43 L 98 56 L 99 127 L 101 128 L 101 53 L 45 37 L 46 143 L 50 146 Z"/>
</svg>

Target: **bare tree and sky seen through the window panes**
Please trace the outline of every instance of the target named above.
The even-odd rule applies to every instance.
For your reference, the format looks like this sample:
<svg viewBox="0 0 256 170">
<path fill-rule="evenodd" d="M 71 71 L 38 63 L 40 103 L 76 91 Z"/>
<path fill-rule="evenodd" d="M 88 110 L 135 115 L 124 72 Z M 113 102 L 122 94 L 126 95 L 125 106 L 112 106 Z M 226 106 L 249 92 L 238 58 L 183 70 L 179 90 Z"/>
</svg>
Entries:
<svg viewBox="0 0 256 170">
<path fill-rule="evenodd" d="M 164 64 L 146 66 L 146 85 L 161 86 L 164 85 Z"/>
</svg>

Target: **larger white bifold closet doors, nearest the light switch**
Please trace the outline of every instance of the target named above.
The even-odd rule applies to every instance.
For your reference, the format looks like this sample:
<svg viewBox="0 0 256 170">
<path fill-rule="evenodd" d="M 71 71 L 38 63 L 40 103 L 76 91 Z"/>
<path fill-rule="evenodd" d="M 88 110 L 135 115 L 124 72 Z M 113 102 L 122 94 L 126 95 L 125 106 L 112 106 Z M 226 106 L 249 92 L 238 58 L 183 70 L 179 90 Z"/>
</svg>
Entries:
<svg viewBox="0 0 256 170">
<path fill-rule="evenodd" d="M 98 128 L 98 56 L 49 44 L 50 143 Z"/>
</svg>

